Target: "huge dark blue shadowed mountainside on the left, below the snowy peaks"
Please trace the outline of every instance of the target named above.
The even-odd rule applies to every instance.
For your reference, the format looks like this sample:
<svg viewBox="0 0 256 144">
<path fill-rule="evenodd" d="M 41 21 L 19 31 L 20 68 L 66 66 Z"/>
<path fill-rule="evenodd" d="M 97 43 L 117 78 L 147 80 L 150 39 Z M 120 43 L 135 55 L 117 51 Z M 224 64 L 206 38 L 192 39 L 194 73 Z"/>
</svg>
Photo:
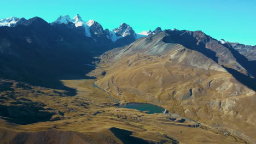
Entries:
<svg viewBox="0 0 256 144">
<path fill-rule="evenodd" d="M 90 50 L 95 47 L 94 40 L 74 26 L 52 26 L 39 17 L 25 25 L 0 28 L 0 78 L 76 95 L 75 89 L 60 80 L 67 75 L 75 75 L 69 79 L 89 78 L 84 74 L 91 68 L 83 64 L 93 61 Z"/>
</svg>

